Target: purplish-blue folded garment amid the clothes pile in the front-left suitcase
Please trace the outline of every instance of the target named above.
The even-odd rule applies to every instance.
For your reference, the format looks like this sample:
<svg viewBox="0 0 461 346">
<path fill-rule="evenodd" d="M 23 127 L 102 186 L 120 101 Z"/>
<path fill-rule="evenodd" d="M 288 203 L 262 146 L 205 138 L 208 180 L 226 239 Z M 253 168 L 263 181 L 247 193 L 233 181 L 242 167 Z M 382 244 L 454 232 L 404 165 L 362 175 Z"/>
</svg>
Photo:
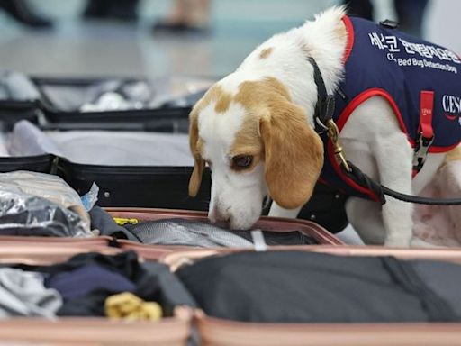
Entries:
<svg viewBox="0 0 461 346">
<path fill-rule="evenodd" d="M 94 291 L 116 294 L 136 290 L 134 284 L 122 274 L 95 264 L 55 274 L 46 281 L 46 286 L 56 289 L 66 300 Z"/>
</svg>

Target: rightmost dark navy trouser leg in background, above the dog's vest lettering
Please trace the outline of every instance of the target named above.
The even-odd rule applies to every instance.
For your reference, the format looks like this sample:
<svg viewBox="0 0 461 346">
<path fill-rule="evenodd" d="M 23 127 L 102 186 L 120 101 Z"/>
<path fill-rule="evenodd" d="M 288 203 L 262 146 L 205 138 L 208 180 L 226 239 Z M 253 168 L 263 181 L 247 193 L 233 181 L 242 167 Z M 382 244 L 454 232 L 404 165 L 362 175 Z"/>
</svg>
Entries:
<svg viewBox="0 0 461 346">
<path fill-rule="evenodd" d="M 422 22 L 428 2 L 429 0 L 393 0 L 402 32 L 422 36 Z"/>
</svg>

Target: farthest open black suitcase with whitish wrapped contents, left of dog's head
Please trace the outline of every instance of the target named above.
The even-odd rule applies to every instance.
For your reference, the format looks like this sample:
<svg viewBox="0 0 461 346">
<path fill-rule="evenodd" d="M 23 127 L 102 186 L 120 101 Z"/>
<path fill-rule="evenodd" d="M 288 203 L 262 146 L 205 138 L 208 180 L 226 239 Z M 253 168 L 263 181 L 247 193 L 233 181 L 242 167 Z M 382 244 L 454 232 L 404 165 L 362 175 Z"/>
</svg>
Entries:
<svg viewBox="0 0 461 346">
<path fill-rule="evenodd" d="M 5 125 L 40 120 L 44 127 L 62 130 L 187 132 L 191 105 L 213 82 L 192 77 L 58 78 L 0 72 Z M 107 93 L 120 97 L 109 98 L 112 104 L 98 104 Z"/>
</svg>

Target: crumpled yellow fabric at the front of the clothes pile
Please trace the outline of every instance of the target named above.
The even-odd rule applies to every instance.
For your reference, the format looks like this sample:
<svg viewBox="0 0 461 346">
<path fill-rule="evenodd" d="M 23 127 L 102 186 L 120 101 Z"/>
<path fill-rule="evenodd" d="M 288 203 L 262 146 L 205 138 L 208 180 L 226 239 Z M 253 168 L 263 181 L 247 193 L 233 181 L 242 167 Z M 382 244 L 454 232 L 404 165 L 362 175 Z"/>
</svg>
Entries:
<svg viewBox="0 0 461 346">
<path fill-rule="evenodd" d="M 104 308 L 105 315 L 113 320 L 158 321 L 162 317 L 158 303 L 145 302 L 129 292 L 107 297 Z"/>
</svg>

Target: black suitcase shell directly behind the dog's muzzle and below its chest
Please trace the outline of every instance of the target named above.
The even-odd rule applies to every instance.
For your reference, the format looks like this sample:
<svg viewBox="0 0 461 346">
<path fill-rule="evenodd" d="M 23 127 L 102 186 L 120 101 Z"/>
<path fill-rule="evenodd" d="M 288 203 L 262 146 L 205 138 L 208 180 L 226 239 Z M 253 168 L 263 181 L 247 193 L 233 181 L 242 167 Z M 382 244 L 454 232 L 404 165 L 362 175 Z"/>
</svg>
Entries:
<svg viewBox="0 0 461 346">
<path fill-rule="evenodd" d="M 210 171 L 203 172 L 199 194 L 187 195 L 192 167 L 108 167 L 79 165 L 59 159 L 59 174 L 79 194 L 93 182 L 100 187 L 98 205 L 208 210 L 211 191 Z M 344 209 L 347 196 L 331 187 L 317 184 L 312 199 L 298 218 L 319 223 L 330 232 L 348 225 Z M 268 208 L 264 214 L 268 213 Z"/>
</svg>

